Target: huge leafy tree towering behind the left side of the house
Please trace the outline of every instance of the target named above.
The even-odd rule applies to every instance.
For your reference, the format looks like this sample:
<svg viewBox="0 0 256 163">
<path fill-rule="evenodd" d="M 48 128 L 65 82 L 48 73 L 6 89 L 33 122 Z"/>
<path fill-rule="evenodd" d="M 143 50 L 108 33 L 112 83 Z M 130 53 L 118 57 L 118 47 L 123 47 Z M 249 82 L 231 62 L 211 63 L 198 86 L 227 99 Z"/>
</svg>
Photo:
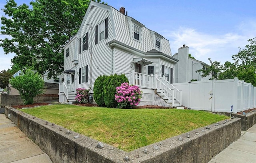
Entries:
<svg viewBox="0 0 256 163">
<path fill-rule="evenodd" d="M 95 1 L 95 0 L 94 0 Z M 97 0 L 100 2 L 100 0 Z M 102 2 L 104 4 L 104 2 Z M 48 71 L 48 78 L 63 71 L 63 47 L 77 33 L 90 0 L 36 0 L 17 6 L 7 1 L 0 39 L 5 54 L 15 53 L 12 63 L 19 69 Z"/>
</svg>

